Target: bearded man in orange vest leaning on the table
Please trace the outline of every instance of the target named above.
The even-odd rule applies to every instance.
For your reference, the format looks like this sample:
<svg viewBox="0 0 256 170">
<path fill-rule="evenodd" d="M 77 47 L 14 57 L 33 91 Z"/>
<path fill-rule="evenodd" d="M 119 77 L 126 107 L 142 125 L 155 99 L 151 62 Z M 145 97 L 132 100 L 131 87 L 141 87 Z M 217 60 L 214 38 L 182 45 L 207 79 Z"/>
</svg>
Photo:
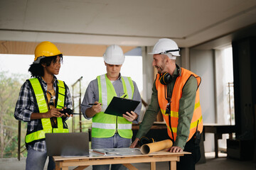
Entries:
<svg viewBox="0 0 256 170">
<path fill-rule="evenodd" d="M 151 103 L 131 147 L 146 135 L 161 111 L 168 135 L 174 142 L 169 151 L 191 152 L 180 158 L 177 169 L 195 169 L 201 157 L 199 142 L 203 131 L 198 89 L 201 77 L 176 64 L 176 57 L 180 55 L 174 40 L 160 39 L 149 54 L 153 55 L 152 64 L 158 74 L 152 88 Z"/>
</svg>

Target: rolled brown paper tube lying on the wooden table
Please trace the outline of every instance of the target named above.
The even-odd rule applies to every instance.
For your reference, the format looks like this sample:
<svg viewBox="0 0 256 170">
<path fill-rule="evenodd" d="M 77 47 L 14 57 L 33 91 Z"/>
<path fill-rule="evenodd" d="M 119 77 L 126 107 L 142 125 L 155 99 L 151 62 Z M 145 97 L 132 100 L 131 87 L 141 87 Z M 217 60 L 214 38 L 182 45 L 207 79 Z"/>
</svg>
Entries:
<svg viewBox="0 0 256 170">
<path fill-rule="evenodd" d="M 150 154 L 152 152 L 157 152 L 163 149 L 172 147 L 173 142 L 171 140 L 162 140 L 159 142 L 153 142 L 149 144 L 144 144 L 141 147 L 142 154 Z"/>
</svg>

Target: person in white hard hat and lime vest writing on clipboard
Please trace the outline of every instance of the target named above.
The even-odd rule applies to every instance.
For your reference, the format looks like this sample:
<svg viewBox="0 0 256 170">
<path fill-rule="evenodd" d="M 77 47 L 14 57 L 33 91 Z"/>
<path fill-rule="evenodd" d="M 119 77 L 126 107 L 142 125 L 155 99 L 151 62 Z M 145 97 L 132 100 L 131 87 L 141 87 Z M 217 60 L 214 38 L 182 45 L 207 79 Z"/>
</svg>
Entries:
<svg viewBox="0 0 256 170">
<path fill-rule="evenodd" d="M 114 96 L 141 101 L 137 84 L 130 77 L 120 74 L 124 63 L 122 48 L 107 47 L 103 55 L 107 74 L 90 81 L 83 98 L 81 110 L 86 119 L 92 118 L 92 149 L 129 147 L 132 143 L 132 123 L 138 123 L 142 103 L 123 117 L 105 114 L 104 111 Z M 94 103 L 90 106 L 90 103 Z M 92 166 L 92 169 L 109 169 L 110 165 Z M 122 164 L 113 164 L 111 169 L 126 169 Z"/>
</svg>

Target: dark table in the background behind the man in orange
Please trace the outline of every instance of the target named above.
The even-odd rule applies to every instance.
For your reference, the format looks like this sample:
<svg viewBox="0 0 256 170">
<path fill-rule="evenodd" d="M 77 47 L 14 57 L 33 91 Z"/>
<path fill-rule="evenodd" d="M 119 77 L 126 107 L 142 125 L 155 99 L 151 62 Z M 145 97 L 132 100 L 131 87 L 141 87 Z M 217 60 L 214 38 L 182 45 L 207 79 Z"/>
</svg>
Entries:
<svg viewBox="0 0 256 170">
<path fill-rule="evenodd" d="M 205 133 L 214 133 L 215 158 L 218 158 L 218 140 L 222 139 L 222 135 L 225 133 L 229 133 L 230 139 L 232 139 L 235 125 L 204 124 L 203 128 Z"/>
</svg>

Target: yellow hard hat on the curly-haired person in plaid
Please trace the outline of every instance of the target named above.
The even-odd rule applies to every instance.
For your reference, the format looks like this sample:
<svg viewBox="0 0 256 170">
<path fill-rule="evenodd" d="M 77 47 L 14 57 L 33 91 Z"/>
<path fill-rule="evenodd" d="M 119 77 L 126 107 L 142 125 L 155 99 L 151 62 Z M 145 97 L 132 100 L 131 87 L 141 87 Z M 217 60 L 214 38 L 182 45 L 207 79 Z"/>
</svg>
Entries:
<svg viewBox="0 0 256 170">
<path fill-rule="evenodd" d="M 36 46 L 35 50 L 35 59 L 34 64 L 40 63 L 40 60 L 44 57 L 52 57 L 55 55 L 61 55 L 60 50 L 49 41 L 43 41 L 38 46 Z"/>
</svg>

